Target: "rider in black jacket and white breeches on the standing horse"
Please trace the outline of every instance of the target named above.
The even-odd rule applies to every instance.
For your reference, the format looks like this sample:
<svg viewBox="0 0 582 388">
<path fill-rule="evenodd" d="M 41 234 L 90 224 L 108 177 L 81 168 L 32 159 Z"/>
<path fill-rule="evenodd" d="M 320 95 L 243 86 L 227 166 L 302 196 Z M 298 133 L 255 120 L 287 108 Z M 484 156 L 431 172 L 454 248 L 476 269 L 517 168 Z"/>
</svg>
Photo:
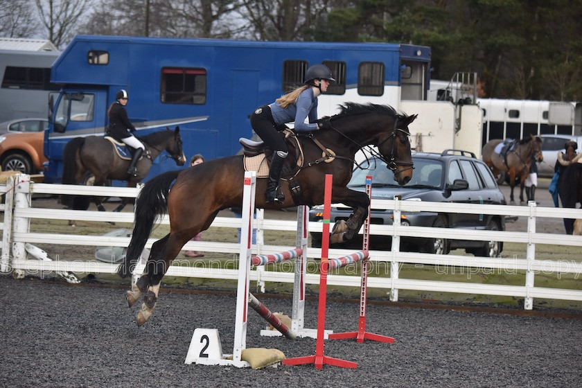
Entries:
<svg viewBox="0 0 582 388">
<path fill-rule="evenodd" d="M 137 175 L 137 169 L 135 166 L 137 161 L 139 161 L 139 158 L 141 158 L 145 146 L 133 135 L 135 127 L 130 119 L 127 118 L 127 111 L 125 111 L 127 100 L 129 100 L 129 96 L 125 89 L 121 89 L 115 95 L 115 102 L 112 103 L 109 110 L 107 110 L 107 117 L 109 117 L 107 135 L 112 136 L 118 141 L 123 141 L 125 145 L 134 150 L 134 152 L 132 152 L 130 167 L 127 168 L 127 175 L 134 177 Z"/>
</svg>

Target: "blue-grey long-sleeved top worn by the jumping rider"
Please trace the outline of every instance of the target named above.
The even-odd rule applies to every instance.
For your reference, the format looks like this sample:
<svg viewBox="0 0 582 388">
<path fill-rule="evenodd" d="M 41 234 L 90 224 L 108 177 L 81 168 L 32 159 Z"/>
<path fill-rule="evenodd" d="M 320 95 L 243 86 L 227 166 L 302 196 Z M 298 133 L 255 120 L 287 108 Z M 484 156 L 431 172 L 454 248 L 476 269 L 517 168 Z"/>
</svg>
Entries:
<svg viewBox="0 0 582 388">
<path fill-rule="evenodd" d="M 308 87 L 301 91 L 299 98 L 294 104 L 289 104 L 286 108 L 279 103 L 272 103 L 271 114 L 276 125 L 294 122 L 295 130 L 312 131 L 317 130 L 317 97 L 313 96 L 313 89 Z M 305 119 L 309 117 L 309 123 Z"/>
</svg>

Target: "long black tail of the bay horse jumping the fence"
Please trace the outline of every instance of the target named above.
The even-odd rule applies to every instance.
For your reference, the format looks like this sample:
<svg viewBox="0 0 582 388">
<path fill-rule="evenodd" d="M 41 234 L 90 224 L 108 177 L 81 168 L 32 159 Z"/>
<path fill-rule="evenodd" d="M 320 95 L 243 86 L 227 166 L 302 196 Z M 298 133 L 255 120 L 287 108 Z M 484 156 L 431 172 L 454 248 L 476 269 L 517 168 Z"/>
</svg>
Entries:
<svg viewBox="0 0 582 388">
<path fill-rule="evenodd" d="M 132 240 L 127 247 L 123 263 L 117 269 L 117 274 L 122 278 L 133 272 L 154 223 L 168 211 L 168 193 L 179 173 L 180 170 L 168 171 L 150 179 L 136 197 Z"/>
</svg>

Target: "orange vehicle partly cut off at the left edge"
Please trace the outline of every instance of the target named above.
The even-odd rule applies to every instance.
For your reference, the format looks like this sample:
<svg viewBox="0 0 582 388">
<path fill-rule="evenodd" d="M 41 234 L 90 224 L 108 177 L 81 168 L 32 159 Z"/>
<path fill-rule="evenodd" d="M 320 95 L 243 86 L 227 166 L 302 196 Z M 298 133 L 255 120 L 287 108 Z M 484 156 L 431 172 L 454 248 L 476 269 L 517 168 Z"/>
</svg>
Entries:
<svg viewBox="0 0 582 388">
<path fill-rule="evenodd" d="M 42 172 L 44 131 L 0 136 L 0 164 L 3 171 L 17 170 L 33 175 Z"/>
</svg>

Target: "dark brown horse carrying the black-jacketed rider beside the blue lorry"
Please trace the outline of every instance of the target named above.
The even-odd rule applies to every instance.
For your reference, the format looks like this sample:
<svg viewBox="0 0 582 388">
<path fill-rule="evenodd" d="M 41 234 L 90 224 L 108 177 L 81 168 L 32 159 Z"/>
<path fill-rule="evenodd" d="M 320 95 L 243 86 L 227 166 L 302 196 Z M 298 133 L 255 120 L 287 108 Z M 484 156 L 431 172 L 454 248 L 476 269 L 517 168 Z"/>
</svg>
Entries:
<svg viewBox="0 0 582 388">
<path fill-rule="evenodd" d="M 152 167 L 153 161 L 161 154 L 168 152 L 178 166 L 186 163 L 186 156 L 182 151 L 182 137 L 180 129 L 152 132 L 138 138 L 145 146 L 143 157 L 136 164 L 137 175 L 127 175 L 130 160 L 121 159 L 117 155 L 115 145 L 102 136 L 76 137 L 64 147 L 63 152 L 63 184 L 80 184 L 87 180 L 89 175 L 94 176 L 94 185 L 103 186 L 107 179 L 127 181 L 127 187 L 135 187 L 141 182 Z M 75 210 L 87 210 L 90 198 L 74 195 L 63 195 L 61 202 Z M 100 211 L 105 211 L 99 197 L 94 197 L 95 204 Z M 121 211 L 129 202 L 122 198 L 121 204 L 114 211 Z"/>
</svg>

